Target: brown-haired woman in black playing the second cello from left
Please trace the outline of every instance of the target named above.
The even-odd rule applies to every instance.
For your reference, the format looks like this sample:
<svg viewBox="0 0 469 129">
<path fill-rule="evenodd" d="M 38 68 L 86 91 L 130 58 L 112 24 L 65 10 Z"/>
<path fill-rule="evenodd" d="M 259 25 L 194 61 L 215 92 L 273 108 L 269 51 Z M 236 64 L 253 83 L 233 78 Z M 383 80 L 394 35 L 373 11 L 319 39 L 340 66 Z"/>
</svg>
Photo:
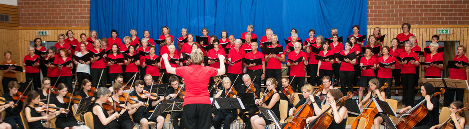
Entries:
<svg viewBox="0 0 469 129">
<path fill-rule="evenodd" d="M 324 87 L 324 90 L 326 89 L 327 88 Z M 336 101 L 342 97 L 343 97 L 342 91 L 340 91 L 339 89 L 331 89 L 327 91 L 327 101 L 329 102 L 329 105 L 331 105 L 332 107 L 332 110 L 329 110 L 328 112 L 333 117 L 332 122 L 327 129 L 345 129 L 345 125 L 346 125 L 347 117 L 348 117 L 348 110 L 344 106 L 345 105 L 344 102 L 339 102 L 336 104 Z M 309 117 L 308 119 L 306 119 L 306 122 L 310 123 L 316 118 L 317 116 Z"/>
</svg>

